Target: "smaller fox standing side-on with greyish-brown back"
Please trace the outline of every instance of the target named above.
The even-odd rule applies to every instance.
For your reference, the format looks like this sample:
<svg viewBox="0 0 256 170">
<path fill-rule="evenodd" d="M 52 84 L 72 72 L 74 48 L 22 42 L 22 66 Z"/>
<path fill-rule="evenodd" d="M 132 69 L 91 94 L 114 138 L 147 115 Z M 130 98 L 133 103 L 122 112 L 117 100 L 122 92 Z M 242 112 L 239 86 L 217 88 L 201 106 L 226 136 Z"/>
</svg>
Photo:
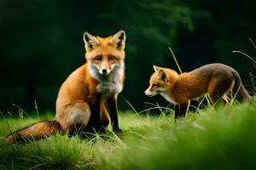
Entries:
<svg viewBox="0 0 256 170">
<path fill-rule="evenodd" d="M 203 65 L 194 71 L 178 75 L 176 71 L 159 66 L 153 66 L 154 73 L 150 77 L 150 85 L 145 91 L 149 97 L 161 94 L 175 105 L 175 120 L 186 116 L 191 99 L 198 99 L 209 94 L 212 104 L 218 99 L 228 103 L 226 94 L 234 91 L 239 102 L 249 102 L 252 97 L 241 83 L 237 71 L 228 65 Z"/>
</svg>

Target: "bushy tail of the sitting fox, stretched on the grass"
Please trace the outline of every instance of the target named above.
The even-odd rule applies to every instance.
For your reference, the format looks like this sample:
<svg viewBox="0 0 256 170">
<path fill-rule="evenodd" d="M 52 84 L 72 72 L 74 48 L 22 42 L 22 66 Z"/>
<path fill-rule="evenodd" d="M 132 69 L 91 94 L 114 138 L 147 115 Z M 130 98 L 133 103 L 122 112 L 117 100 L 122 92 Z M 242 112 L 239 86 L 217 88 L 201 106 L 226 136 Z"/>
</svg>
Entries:
<svg viewBox="0 0 256 170">
<path fill-rule="evenodd" d="M 28 127 L 21 128 L 5 137 L 6 144 L 15 142 L 26 143 L 32 139 L 41 139 L 60 131 L 61 125 L 55 121 L 36 122 Z"/>
</svg>

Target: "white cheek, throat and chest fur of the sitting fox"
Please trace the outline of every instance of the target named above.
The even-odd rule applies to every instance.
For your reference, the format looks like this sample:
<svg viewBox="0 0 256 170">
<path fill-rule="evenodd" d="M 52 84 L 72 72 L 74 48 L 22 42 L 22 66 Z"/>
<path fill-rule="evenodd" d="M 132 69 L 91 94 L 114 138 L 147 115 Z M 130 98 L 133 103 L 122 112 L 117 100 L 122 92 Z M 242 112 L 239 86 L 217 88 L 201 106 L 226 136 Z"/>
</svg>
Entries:
<svg viewBox="0 0 256 170">
<path fill-rule="evenodd" d="M 99 82 L 96 87 L 96 91 L 106 97 L 113 94 L 119 94 L 123 89 L 123 85 L 120 84 L 121 78 L 124 76 L 123 68 L 123 65 L 119 65 L 116 66 L 108 75 L 102 75 L 95 66 L 91 65 L 90 73 L 92 77 Z"/>
</svg>

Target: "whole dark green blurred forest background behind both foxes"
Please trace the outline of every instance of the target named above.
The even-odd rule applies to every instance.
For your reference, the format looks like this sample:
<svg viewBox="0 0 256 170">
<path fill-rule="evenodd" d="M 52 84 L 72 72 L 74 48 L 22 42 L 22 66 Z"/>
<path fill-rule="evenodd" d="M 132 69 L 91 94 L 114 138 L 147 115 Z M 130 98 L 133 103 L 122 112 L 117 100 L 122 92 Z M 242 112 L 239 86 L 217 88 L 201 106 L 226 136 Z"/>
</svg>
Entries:
<svg viewBox="0 0 256 170">
<path fill-rule="evenodd" d="M 138 111 L 149 99 L 143 91 L 152 65 L 177 70 L 172 47 L 183 71 L 212 62 L 234 67 L 246 85 L 255 56 L 255 1 L 238 0 L 1 0 L 0 111 L 55 111 L 61 83 L 84 64 L 84 31 L 109 36 L 126 33 L 125 88 L 119 108 Z M 124 99 L 125 98 L 125 99 Z"/>
</svg>

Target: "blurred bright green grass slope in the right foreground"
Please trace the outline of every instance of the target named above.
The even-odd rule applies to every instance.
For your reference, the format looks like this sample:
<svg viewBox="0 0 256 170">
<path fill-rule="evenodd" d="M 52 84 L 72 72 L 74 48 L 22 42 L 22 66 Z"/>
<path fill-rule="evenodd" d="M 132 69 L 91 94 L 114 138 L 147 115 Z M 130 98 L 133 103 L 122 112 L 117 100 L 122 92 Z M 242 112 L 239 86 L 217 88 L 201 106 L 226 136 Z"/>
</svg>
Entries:
<svg viewBox="0 0 256 170">
<path fill-rule="evenodd" d="M 176 126 L 148 125 L 143 138 L 113 152 L 107 169 L 255 168 L 255 105 L 200 111 Z M 142 133 L 140 133 L 142 134 Z M 248 136 L 248 138 L 247 138 Z M 135 144 L 137 141 L 138 144 Z M 133 144 L 133 145 L 130 145 Z M 117 158 L 116 158 L 117 157 Z"/>
</svg>

